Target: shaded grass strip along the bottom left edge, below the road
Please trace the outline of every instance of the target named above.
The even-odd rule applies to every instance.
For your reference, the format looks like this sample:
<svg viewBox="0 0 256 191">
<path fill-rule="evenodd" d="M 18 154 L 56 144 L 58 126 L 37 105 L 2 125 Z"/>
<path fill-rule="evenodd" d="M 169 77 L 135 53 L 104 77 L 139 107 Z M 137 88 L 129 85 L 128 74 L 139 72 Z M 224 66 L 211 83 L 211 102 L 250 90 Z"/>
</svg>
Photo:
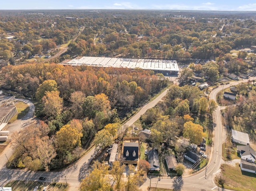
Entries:
<svg viewBox="0 0 256 191">
<path fill-rule="evenodd" d="M 15 191 L 31 191 L 36 186 L 38 186 L 38 191 L 41 191 L 43 187 L 47 187 L 48 190 L 51 191 L 67 191 L 68 187 L 66 187 L 66 183 L 56 183 L 50 184 L 48 183 L 40 185 L 41 182 L 34 182 L 34 181 L 12 181 L 4 185 L 4 187 L 12 187 L 12 190 Z"/>
</svg>

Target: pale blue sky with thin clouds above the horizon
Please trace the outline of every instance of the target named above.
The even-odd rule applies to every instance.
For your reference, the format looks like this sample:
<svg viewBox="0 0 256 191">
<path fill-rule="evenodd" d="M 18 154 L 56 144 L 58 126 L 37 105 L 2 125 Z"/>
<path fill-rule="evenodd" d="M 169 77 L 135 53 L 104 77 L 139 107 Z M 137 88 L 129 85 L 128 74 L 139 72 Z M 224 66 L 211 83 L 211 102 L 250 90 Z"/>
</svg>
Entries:
<svg viewBox="0 0 256 191">
<path fill-rule="evenodd" d="M 1 0 L 0 10 L 152 9 L 256 11 L 255 0 Z"/>
</svg>

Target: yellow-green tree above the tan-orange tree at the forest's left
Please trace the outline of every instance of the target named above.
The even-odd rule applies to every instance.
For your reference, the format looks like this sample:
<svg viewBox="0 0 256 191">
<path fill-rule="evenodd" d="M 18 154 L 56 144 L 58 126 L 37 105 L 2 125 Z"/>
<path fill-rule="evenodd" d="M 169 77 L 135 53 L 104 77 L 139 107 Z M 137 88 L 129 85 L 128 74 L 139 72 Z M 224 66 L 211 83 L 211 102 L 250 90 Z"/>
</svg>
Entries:
<svg viewBox="0 0 256 191">
<path fill-rule="evenodd" d="M 57 91 L 57 83 L 55 80 L 46 80 L 40 84 L 36 91 L 36 99 L 41 100 L 47 91 Z"/>
</svg>

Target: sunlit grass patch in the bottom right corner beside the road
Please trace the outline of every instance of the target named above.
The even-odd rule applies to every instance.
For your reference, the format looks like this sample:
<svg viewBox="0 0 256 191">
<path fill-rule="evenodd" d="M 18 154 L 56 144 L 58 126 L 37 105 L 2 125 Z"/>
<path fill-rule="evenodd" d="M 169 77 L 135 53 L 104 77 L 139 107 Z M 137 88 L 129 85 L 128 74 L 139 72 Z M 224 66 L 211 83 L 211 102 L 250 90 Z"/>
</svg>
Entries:
<svg viewBox="0 0 256 191">
<path fill-rule="evenodd" d="M 241 171 L 238 163 L 236 166 L 221 165 L 222 175 L 225 179 L 224 188 L 236 191 L 256 190 L 256 175 Z"/>
</svg>

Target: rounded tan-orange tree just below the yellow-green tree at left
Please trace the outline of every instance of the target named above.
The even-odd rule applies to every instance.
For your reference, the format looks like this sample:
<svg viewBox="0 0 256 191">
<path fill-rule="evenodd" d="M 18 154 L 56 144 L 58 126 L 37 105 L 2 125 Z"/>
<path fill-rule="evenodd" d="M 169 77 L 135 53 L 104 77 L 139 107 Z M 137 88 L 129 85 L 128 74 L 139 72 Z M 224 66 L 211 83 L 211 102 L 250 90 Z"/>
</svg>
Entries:
<svg viewBox="0 0 256 191">
<path fill-rule="evenodd" d="M 42 97 L 42 104 L 44 108 L 44 114 L 49 117 L 56 118 L 62 112 L 62 98 L 59 96 L 59 91 L 46 92 L 46 95 Z"/>
</svg>

